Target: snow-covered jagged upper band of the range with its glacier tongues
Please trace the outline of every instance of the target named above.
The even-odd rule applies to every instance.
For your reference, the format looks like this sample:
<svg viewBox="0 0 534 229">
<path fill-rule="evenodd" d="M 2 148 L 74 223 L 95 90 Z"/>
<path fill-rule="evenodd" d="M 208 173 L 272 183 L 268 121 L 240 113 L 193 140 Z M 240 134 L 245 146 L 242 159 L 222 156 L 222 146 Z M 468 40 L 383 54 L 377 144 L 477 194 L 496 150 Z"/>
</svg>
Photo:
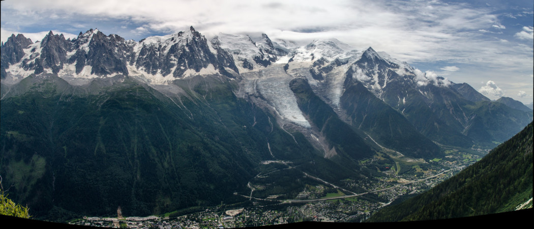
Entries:
<svg viewBox="0 0 534 229">
<path fill-rule="evenodd" d="M 219 74 L 241 84 L 239 96 L 255 98 L 253 100 L 276 111 L 281 120 L 304 128 L 309 128 L 310 123 L 289 88 L 289 82 L 294 78 L 307 78 L 315 93 L 333 108 L 339 108 L 346 77 L 361 81 L 380 96 L 391 80 L 389 70 L 399 76 L 416 75 L 407 63 L 391 58 L 387 53 L 377 53 L 370 47 L 357 51 L 337 39 L 302 45 L 284 40 L 272 42 L 267 35 L 255 42 L 248 35 L 219 34 L 208 43 L 191 28 L 176 34 L 147 37 L 137 43 L 116 35 L 105 36 L 91 29 L 80 33 L 71 44 L 65 56 L 67 61 L 57 71 L 58 76 L 70 84 L 86 84 L 94 78 L 123 74 L 152 86 L 167 88 L 164 85 L 170 85 L 176 79 Z M 34 43 L 25 48 L 23 60 L 31 62 L 41 58 L 42 45 Z M 105 56 L 95 58 L 111 56 L 116 59 L 117 68 L 93 73 L 107 65 L 86 60 L 84 56 L 90 53 L 90 48 L 107 48 Z M 33 73 L 36 67 L 25 67 L 23 60 L 6 69 L 9 79 L 3 79 L 4 84 L 8 83 L 6 81 L 16 83 Z M 50 73 L 51 69 L 45 66 L 43 72 Z"/>
</svg>

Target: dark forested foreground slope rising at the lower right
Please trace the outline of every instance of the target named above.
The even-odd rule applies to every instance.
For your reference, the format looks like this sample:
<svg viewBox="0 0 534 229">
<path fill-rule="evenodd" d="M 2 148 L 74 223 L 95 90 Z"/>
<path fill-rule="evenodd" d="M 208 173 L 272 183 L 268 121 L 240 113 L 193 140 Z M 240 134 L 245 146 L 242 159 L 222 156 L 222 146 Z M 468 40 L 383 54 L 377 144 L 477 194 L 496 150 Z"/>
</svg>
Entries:
<svg viewBox="0 0 534 229">
<path fill-rule="evenodd" d="M 532 122 L 488 156 L 433 189 L 376 212 L 369 222 L 457 218 L 512 211 L 532 198 Z"/>
</svg>

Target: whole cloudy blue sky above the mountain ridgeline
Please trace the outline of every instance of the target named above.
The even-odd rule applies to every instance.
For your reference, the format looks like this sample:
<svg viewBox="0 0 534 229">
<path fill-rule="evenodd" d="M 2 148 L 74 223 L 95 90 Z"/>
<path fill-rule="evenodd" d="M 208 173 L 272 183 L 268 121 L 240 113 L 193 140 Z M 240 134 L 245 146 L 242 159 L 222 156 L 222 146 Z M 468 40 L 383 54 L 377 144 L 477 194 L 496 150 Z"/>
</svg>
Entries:
<svg viewBox="0 0 534 229">
<path fill-rule="evenodd" d="M 140 40 L 193 26 L 272 39 L 372 46 L 490 97 L 533 100 L 534 1 L 2 1 L 1 40 L 98 28 Z"/>
</svg>

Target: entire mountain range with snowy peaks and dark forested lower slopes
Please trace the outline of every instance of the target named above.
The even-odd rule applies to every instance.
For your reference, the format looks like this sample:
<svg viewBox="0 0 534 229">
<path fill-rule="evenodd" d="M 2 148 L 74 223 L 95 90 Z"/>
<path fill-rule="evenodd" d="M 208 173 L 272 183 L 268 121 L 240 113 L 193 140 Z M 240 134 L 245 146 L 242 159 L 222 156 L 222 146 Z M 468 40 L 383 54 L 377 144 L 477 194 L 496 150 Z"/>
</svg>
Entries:
<svg viewBox="0 0 534 229">
<path fill-rule="evenodd" d="M 532 121 L 520 102 L 336 39 L 90 29 L 1 49 L 0 173 L 52 218 L 231 201 L 266 160 L 361 179 L 358 161 L 379 151 L 488 149 Z"/>
</svg>

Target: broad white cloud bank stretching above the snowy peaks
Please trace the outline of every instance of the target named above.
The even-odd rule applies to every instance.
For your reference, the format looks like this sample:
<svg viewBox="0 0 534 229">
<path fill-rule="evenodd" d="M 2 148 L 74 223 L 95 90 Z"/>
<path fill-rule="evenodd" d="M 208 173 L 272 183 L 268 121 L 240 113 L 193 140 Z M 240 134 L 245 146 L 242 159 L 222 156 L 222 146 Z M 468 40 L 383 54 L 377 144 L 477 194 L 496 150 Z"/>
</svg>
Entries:
<svg viewBox="0 0 534 229">
<path fill-rule="evenodd" d="M 2 10 L 31 15 L 28 19 L 18 19 L 18 25 L 56 14 L 65 20 L 80 16 L 95 18 L 95 21 L 128 19 L 138 22 L 137 27 L 143 24 L 143 28 L 152 32 L 167 34 L 193 26 L 208 38 L 219 32 L 265 32 L 271 38 L 282 39 L 336 37 L 354 47 L 372 46 L 387 51 L 403 61 L 471 58 L 474 53 L 482 52 L 466 55 L 458 55 L 458 52 L 464 52 L 466 47 L 491 45 L 474 39 L 478 32 L 458 31 L 501 26 L 497 15 L 489 9 L 438 1 L 335 0 L 325 4 L 322 0 L 266 0 L 262 3 L 249 0 L 159 0 L 147 4 L 140 0 L 26 0 L 3 2 Z M 88 26 L 93 23 L 90 24 Z M 134 27 L 130 32 L 139 35 L 142 31 Z"/>
</svg>

